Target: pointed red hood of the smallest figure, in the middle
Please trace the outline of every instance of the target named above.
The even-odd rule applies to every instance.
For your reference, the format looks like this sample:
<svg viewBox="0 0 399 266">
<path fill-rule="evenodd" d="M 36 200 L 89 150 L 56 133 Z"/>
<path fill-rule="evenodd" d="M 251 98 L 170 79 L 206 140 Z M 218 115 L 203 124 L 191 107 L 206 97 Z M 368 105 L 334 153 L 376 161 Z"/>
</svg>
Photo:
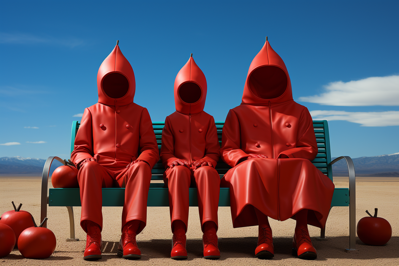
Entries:
<svg viewBox="0 0 399 266">
<path fill-rule="evenodd" d="M 203 110 L 206 99 L 205 75 L 190 56 L 186 65 L 177 73 L 174 84 L 176 111 L 197 114 Z"/>
</svg>

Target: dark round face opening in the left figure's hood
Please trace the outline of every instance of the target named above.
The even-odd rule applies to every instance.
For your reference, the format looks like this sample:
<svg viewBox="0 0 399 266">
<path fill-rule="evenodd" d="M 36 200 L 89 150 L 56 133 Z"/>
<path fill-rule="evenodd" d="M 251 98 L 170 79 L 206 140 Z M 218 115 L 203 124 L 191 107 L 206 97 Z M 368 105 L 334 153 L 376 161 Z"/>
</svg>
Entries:
<svg viewBox="0 0 399 266">
<path fill-rule="evenodd" d="M 109 73 L 102 81 L 104 93 L 112 99 L 120 99 L 129 90 L 128 79 L 120 73 Z"/>
</svg>

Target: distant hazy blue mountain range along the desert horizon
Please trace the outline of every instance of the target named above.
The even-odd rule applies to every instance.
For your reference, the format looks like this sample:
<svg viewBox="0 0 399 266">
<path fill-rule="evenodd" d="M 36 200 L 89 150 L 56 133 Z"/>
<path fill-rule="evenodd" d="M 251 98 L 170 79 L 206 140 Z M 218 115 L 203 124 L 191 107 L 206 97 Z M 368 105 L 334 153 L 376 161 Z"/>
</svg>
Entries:
<svg viewBox="0 0 399 266">
<path fill-rule="evenodd" d="M 332 158 L 334 160 L 335 158 Z M 399 152 L 371 157 L 352 159 L 358 176 L 399 176 Z M 38 158 L 24 158 L 20 156 L 0 158 L 0 175 L 41 175 L 46 160 Z M 53 162 L 50 173 L 61 163 Z M 345 160 L 333 164 L 332 172 L 335 176 L 348 175 Z"/>
</svg>

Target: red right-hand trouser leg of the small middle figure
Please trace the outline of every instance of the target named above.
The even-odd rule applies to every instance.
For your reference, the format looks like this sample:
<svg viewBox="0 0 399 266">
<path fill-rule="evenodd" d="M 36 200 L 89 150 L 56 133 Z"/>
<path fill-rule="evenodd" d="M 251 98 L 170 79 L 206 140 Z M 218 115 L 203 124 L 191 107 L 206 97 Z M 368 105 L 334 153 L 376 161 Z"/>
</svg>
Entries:
<svg viewBox="0 0 399 266">
<path fill-rule="evenodd" d="M 207 221 L 213 221 L 217 225 L 220 192 L 219 174 L 211 166 L 201 166 L 194 171 L 194 179 L 197 185 L 201 227 Z"/>
</svg>

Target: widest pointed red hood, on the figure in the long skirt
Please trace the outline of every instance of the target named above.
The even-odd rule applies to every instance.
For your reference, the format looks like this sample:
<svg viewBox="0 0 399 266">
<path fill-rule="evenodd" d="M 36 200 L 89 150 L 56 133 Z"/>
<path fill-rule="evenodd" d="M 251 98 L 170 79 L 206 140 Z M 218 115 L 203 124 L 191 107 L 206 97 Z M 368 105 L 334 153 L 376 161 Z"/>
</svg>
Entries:
<svg viewBox="0 0 399 266">
<path fill-rule="evenodd" d="M 249 66 L 241 104 L 269 104 L 292 100 L 290 76 L 281 57 L 269 41 Z"/>
</svg>

